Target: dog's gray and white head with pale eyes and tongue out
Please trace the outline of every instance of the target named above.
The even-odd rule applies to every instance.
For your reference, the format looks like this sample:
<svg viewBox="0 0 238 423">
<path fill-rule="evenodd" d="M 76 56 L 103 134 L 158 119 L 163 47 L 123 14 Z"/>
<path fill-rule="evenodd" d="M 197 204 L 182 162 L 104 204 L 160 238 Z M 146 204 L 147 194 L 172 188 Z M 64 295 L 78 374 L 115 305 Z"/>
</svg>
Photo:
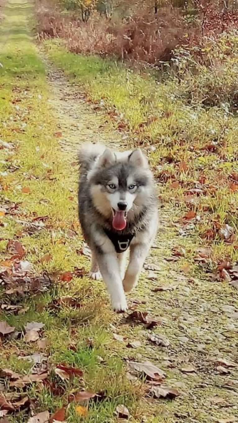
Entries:
<svg viewBox="0 0 238 423">
<path fill-rule="evenodd" d="M 108 148 L 89 173 L 94 206 L 112 218 L 115 230 L 122 231 L 131 214 L 143 207 L 151 193 L 152 174 L 140 149 L 115 155 Z"/>
</svg>

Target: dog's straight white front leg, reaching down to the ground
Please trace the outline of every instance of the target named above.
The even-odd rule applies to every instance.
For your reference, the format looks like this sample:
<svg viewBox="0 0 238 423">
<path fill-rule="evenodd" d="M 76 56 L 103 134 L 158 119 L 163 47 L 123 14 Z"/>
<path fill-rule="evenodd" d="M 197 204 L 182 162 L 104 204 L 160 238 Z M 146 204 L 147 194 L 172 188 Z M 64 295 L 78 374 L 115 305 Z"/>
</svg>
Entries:
<svg viewBox="0 0 238 423">
<path fill-rule="evenodd" d="M 120 267 L 116 253 L 97 253 L 96 258 L 101 275 L 112 299 L 112 308 L 117 313 L 126 311 L 126 297 L 120 277 Z"/>
</svg>

